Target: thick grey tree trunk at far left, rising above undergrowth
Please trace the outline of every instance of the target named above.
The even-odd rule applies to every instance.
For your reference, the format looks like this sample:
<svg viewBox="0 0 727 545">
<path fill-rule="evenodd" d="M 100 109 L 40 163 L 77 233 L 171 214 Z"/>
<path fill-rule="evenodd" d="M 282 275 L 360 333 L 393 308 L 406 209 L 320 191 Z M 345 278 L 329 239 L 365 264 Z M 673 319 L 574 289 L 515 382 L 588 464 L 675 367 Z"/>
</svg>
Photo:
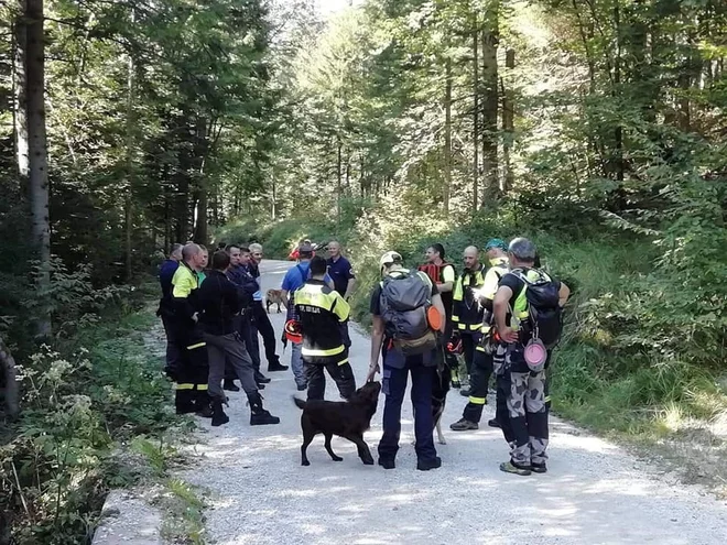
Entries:
<svg viewBox="0 0 727 545">
<path fill-rule="evenodd" d="M 51 219 L 48 214 L 48 162 L 45 134 L 45 35 L 43 31 L 43 0 L 26 0 L 26 56 L 28 81 L 28 151 L 29 188 L 31 200 L 32 242 L 40 261 L 37 290 L 41 297 L 51 286 Z M 51 334 L 51 313 L 42 305 L 37 333 Z"/>
</svg>

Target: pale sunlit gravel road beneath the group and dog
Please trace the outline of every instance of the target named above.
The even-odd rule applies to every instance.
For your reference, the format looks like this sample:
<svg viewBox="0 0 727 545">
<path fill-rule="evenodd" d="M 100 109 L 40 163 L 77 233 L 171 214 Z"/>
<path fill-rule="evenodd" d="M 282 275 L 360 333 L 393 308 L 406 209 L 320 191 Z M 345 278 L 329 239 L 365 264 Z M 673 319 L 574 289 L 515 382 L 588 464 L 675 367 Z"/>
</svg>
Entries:
<svg viewBox="0 0 727 545">
<path fill-rule="evenodd" d="M 291 263 L 263 263 L 263 287 L 280 287 Z M 366 287 L 364 287 L 366 288 Z M 274 313 L 274 310 L 273 310 Z M 283 314 L 272 314 L 276 331 Z M 351 364 L 360 383 L 369 342 L 352 331 Z M 282 346 L 280 352 L 282 352 Z M 289 363 L 290 349 L 283 356 Z M 264 367 L 264 362 L 263 362 Z M 249 426 L 245 394 L 230 393 L 230 423 L 199 434 L 198 467 L 186 480 L 211 491 L 207 527 L 219 545 L 238 544 L 723 544 L 727 502 L 685 487 L 622 449 L 566 423 L 551 426 L 550 472 L 502 473 L 508 458 L 498 429 L 455 433 L 466 400 L 451 392 L 443 418 L 447 445 L 438 470 L 415 470 L 411 406 L 404 405 L 397 469 L 364 466 L 356 447 L 334 438 L 334 462 L 318 436 L 301 467 L 300 411 L 292 373 L 270 373 L 263 395 L 278 426 Z M 327 396 L 337 397 L 328 380 Z M 375 451 L 381 412 L 367 442 Z M 492 415 L 485 407 L 484 421 Z M 375 453 L 376 457 L 376 453 Z"/>
</svg>

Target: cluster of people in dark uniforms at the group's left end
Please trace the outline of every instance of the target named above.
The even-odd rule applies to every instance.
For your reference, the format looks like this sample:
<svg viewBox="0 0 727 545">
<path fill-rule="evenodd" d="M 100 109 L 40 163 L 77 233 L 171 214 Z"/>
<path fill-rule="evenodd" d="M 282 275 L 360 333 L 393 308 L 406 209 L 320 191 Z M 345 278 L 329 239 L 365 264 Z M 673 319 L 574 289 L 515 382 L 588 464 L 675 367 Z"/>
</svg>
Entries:
<svg viewBox="0 0 727 545">
<path fill-rule="evenodd" d="M 275 333 L 263 307 L 259 263 L 262 247 L 220 247 L 208 263 L 206 248 L 175 244 L 160 269 L 158 314 L 166 333 L 167 375 L 175 384 L 178 414 L 229 422 L 224 390 L 239 391 L 250 404 L 250 424 L 278 424 L 262 404 L 260 390 L 270 379 L 260 370 L 262 337 L 268 371 L 285 371 L 275 352 Z M 209 269 L 207 265 L 210 265 Z"/>
</svg>

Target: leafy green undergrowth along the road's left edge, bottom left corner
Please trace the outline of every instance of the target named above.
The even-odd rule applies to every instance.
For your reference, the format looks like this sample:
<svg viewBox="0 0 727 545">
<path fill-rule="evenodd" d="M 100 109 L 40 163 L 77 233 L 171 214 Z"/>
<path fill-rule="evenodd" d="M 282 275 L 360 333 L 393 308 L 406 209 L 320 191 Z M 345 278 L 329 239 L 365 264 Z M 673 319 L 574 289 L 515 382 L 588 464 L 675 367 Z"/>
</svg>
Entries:
<svg viewBox="0 0 727 545">
<path fill-rule="evenodd" d="M 156 318 L 140 291 L 135 308 L 106 308 L 22 361 L 22 415 L 0 444 L 4 543 L 90 543 L 109 489 L 163 479 L 178 458 L 171 443 L 191 424 L 144 347 Z"/>
</svg>

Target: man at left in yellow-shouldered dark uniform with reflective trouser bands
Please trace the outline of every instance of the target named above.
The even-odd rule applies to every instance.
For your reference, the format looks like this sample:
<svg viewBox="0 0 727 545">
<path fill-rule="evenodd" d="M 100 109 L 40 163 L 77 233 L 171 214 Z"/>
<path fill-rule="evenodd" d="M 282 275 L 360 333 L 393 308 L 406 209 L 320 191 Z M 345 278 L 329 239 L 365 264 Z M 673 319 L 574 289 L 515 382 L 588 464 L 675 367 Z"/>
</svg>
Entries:
<svg viewBox="0 0 727 545">
<path fill-rule="evenodd" d="M 211 406 L 207 392 L 207 348 L 197 323 L 197 271 L 202 269 L 203 260 L 202 249 L 197 244 L 186 244 L 182 249 L 182 262 L 172 279 L 174 338 L 181 352 L 178 370 L 175 370 L 172 380 L 176 383 L 174 403 L 177 414 L 197 412 L 209 417 Z"/>
</svg>

